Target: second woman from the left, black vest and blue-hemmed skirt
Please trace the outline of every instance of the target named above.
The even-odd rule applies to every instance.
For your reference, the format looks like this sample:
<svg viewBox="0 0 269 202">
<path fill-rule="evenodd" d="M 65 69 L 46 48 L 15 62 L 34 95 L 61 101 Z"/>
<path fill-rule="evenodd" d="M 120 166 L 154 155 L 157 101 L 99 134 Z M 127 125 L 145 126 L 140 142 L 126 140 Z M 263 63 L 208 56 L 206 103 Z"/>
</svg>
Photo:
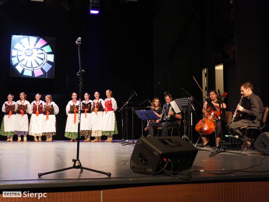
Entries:
<svg viewBox="0 0 269 202">
<path fill-rule="evenodd" d="M 14 133 L 18 135 L 18 142 L 21 141 L 21 135 L 23 135 L 23 141 L 27 142 L 27 134 L 29 134 L 29 120 L 27 113 L 32 114 L 30 102 L 26 100 L 26 94 L 20 93 L 20 100 L 16 102 L 18 109 L 16 111 Z"/>
</svg>

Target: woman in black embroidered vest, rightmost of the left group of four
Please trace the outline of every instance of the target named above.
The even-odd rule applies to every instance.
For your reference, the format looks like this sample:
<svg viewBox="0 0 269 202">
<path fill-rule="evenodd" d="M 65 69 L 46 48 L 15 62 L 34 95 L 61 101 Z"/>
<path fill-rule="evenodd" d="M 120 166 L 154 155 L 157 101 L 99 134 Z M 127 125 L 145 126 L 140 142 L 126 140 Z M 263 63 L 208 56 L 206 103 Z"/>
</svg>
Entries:
<svg viewBox="0 0 269 202">
<path fill-rule="evenodd" d="M 46 103 L 44 104 L 43 116 L 43 133 L 46 136 L 46 142 L 52 142 L 52 135 L 56 135 L 56 117 L 55 114 L 59 113 L 59 107 L 52 102 L 51 95 L 45 97 Z"/>
</svg>

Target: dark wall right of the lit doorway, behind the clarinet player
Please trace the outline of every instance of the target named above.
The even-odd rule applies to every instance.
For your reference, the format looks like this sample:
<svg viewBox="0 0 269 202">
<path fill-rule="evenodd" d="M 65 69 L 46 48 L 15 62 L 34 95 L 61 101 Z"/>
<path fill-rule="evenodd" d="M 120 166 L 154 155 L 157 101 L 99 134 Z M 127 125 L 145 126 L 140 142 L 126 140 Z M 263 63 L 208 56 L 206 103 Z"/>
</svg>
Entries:
<svg viewBox="0 0 269 202">
<path fill-rule="evenodd" d="M 251 82 L 264 107 L 269 106 L 268 8 L 268 1 L 234 1 L 235 65 L 227 66 L 230 111 L 240 100 L 244 82 Z"/>
</svg>

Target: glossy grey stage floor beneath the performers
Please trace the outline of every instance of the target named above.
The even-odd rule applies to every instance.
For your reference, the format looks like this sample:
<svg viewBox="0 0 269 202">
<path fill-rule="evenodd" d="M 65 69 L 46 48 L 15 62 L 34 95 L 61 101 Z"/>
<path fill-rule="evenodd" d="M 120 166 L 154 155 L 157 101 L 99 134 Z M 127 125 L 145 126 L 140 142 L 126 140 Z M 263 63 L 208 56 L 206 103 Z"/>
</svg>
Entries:
<svg viewBox="0 0 269 202">
<path fill-rule="evenodd" d="M 242 182 L 246 178 L 248 181 L 269 179 L 269 156 L 257 153 L 255 150 L 244 152 L 247 156 L 224 152 L 212 157 L 209 156 L 209 151 L 198 151 L 191 170 L 203 170 L 203 172 L 193 173 L 190 180 L 183 180 L 179 178 L 182 175 L 148 176 L 134 173 L 130 169 L 133 148 L 134 145 L 123 146 L 118 142 L 80 142 L 79 159 L 82 166 L 110 172 L 110 177 L 81 169 L 70 169 L 38 177 L 38 173 L 72 167 L 72 159 L 76 159 L 77 155 L 77 143 L 0 141 L 0 189 L 41 187 L 74 189 L 73 187 L 77 186 L 126 187 L 128 184 L 147 186 L 163 183 Z M 236 150 L 227 147 L 225 149 Z M 234 172 L 235 170 L 240 171 Z"/>
</svg>

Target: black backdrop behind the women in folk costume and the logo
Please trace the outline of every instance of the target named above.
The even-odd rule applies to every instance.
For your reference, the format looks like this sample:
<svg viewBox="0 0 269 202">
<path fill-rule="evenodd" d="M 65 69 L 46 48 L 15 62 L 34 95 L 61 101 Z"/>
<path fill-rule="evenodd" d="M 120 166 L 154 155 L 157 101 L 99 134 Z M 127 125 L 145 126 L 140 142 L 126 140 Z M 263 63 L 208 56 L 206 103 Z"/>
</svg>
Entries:
<svg viewBox="0 0 269 202">
<path fill-rule="evenodd" d="M 25 92 L 31 103 L 36 93 L 52 95 L 59 106 L 56 115 L 57 133 L 55 140 L 64 140 L 66 122 L 65 107 L 71 100 L 71 93 L 78 93 L 79 70 L 77 37 L 82 38 L 81 60 L 84 74 L 84 93 L 111 89 L 118 107 L 122 107 L 132 90 L 137 96 L 130 102 L 143 102 L 153 97 L 153 25 L 152 1 L 126 2 L 100 1 L 99 15 L 89 14 L 89 1 L 5 1 L 0 6 L 1 24 L 1 98 L 2 104 L 8 93 L 19 100 L 19 93 Z M 10 77 L 11 35 L 55 37 L 55 77 L 20 78 Z M 137 103 L 136 103 L 137 104 Z M 142 105 L 145 107 L 146 105 Z M 129 107 L 135 107 L 129 105 Z M 131 135 L 131 110 L 129 109 L 129 133 Z M 1 113 L 1 120 L 3 113 Z M 122 137 L 121 116 L 116 112 L 119 135 Z M 136 139 L 141 136 L 141 122 L 135 117 Z M 137 135 L 139 133 L 139 135 Z M 2 138 L 4 139 L 4 138 Z"/>
</svg>

